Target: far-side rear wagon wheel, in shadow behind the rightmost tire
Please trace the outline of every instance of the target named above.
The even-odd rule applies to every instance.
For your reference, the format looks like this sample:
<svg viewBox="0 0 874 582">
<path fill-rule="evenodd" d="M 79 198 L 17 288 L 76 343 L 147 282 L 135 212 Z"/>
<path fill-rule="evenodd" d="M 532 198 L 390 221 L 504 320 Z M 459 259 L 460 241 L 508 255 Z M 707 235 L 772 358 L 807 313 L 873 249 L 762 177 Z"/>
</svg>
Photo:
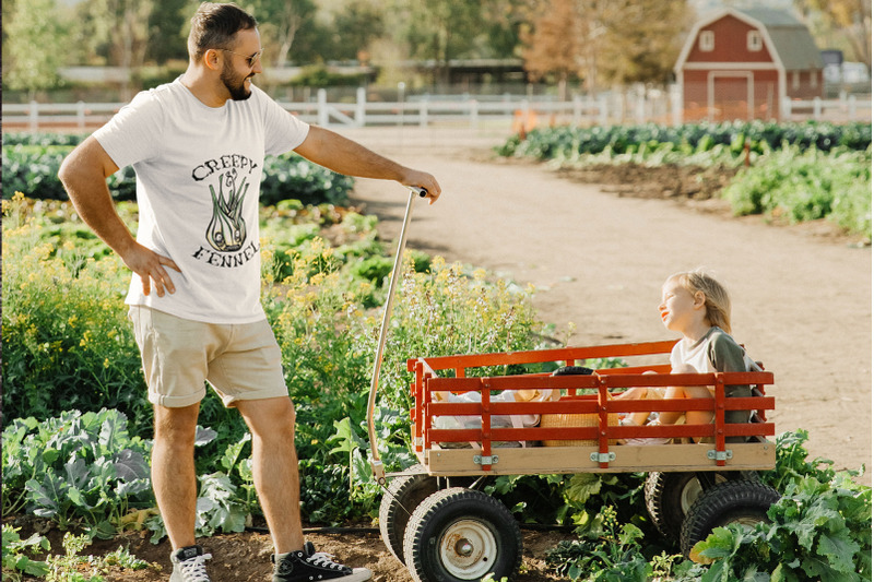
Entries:
<svg viewBox="0 0 874 582">
<path fill-rule="evenodd" d="M 701 484 L 701 479 L 706 483 Z M 712 474 L 650 473 L 643 486 L 647 511 L 659 532 L 669 539 L 677 542 L 683 520 L 701 492 L 713 485 L 741 479 L 757 480 L 758 474 L 749 471 Z"/>
</svg>

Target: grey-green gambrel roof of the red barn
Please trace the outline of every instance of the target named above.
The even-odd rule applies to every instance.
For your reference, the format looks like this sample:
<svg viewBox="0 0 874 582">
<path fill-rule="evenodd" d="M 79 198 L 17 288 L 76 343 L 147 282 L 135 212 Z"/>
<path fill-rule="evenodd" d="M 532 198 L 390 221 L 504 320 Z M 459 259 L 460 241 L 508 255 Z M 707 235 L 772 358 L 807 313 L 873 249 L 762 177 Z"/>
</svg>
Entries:
<svg viewBox="0 0 874 582">
<path fill-rule="evenodd" d="M 680 70 L 688 58 L 695 38 L 701 28 L 727 15 L 740 19 L 763 32 L 765 41 L 772 49 L 775 59 L 787 71 L 822 69 L 823 57 L 807 27 L 789 12 L 769 8 L 720 9 L 699 20 L 686 40 L 677 59 Z"/>
</svg>

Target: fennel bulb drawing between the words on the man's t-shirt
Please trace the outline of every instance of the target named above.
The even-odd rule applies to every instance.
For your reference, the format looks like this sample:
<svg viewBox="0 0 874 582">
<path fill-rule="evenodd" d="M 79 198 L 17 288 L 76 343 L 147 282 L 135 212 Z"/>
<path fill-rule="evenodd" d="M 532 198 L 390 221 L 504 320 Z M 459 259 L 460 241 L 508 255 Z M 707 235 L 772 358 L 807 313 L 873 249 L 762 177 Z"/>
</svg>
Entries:
<svg viewBox="0 0 874 582">
<path fill-rule="evenodd" d="M 243 218 L 243 201 L 249 185 L 244 177 L 237 182 L 237 170 L 232 168 L 218 176 L 218 193 L 210 185 L 212 195 L 212 221 L 206 227 L 206 240 L 221 252 L 234 252 L 246 242 L 246 221 Z M 227 198 L 225 199 L 225 193 Z"/>
</svg>

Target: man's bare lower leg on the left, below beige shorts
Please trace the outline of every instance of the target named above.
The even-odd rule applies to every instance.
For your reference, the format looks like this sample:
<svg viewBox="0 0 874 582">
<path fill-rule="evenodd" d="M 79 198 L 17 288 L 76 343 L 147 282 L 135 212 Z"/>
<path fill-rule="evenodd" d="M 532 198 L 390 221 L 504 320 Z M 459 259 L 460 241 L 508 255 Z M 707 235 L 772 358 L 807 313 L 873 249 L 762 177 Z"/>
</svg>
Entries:
<svg viewBox="0 0 874 582">
<path fill-rule="evenodd" d="M 200 403 L 181 408 L 155 406 L 152 487 L 173 549 L 194 545 L 194 436 L 199 411 Z"/>
</svg>

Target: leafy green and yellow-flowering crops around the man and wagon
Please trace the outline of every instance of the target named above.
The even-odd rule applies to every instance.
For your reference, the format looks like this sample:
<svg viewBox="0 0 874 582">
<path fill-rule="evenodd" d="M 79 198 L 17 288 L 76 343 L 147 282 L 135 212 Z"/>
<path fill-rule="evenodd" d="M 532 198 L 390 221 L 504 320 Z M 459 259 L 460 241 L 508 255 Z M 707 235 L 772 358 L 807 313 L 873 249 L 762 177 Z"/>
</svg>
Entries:
<svg viewBox="0 0 874 582">
<path fill-rule="evenodd" d="M 801 155 L 812 150 L 802 154 L 796 145 L 787 152 L 791 147 Z M 733 163 L 743 166 L 743 152 L 732 154 Z M 870 147 L 862 152 L 870 158 Z M 756 155 L 755 165 L 771 154 Z M 288 175 L 277 183 L 295 174 L 305 176 L 306 191 L 338 188 L 300 201 L 295 188 L 277 186 L 261 216 L 262 300 L 300 420 L 303 512 L 312 524 L 369 525 L 379 491 L 368 479 L 363 421 L 391 262 L 376 218 L 343 205 L 351 185 L 298 164 L 277 161 L 275 174 Z M 3 513 L 38 516 L 84 535 L 64 543 L 73 555 L 86 556 L 90 538 L 123 531 L 157 541 L 163 531 L 147 480 L 151 411 L 121 305 L 128 274 L 67 202 L 38 193 L 13 192 L 3 203 Z M 134 227 L 135 204 L 122 201 L 119 209 Z M 538 321 L 531 289 L 440 258 L 410 253 L 403 293 L 378 411 L 389 470 L 412 462 L 409 355 L 529 349 L 551 333 Z M 212 395 L 201 427 L 200 535 L 258 525 L 245 427 Z M 683 560 L 654 530 L 643 502 L 646 475 L 499 477 L 486 488 L 522 523 L 576 528 L 577 539 L 547 557 L 555 575 L 565 579 L 867 580 L 871 489 L 828 461 L 808 459 L 806 438 L 803 431 L 782 435 L 778 467 L 763 476 L 784 495 L 772 523 L 717 532 L 698 548 L 699 562 Z M 95 558 L 87 577 L 72 578 L 85 571 L 83 561 L 61 556 L 63 547 L 47 558 L 46 537 L 31 537 L 33 530 L 21 525 L 26 520 L 4 523 L 4 578 L 99 580 L 106 568 L 118 579 L 133 579 L 118 574 L 119 568 L 142 568 L 122 551 Z"/>
</svg>

